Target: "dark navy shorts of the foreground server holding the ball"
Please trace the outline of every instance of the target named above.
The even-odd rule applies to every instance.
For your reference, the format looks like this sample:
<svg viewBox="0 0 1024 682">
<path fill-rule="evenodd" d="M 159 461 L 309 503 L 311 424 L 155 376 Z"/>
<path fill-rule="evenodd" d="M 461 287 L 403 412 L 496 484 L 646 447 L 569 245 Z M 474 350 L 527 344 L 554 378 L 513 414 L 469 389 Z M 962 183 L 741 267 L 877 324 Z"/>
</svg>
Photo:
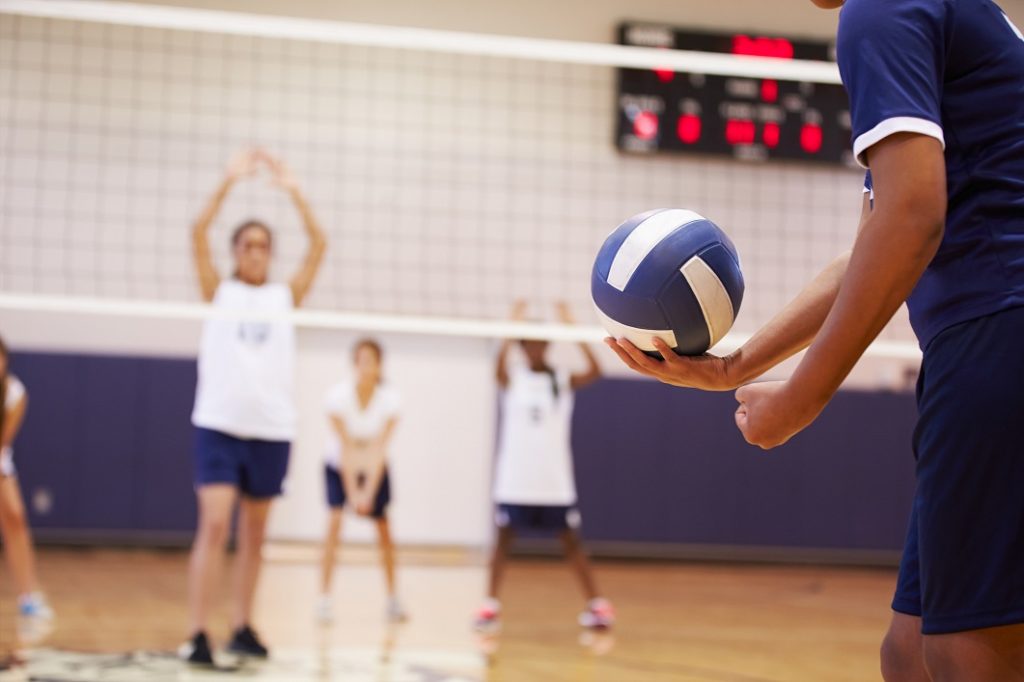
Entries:
<svg viewBox="0 0 1024 682">
<path fill-rule="evenodd" d="M 1024 308 L 929 344 L 893 610 L 938 635 L 1024 623 Z"/>
</svg>

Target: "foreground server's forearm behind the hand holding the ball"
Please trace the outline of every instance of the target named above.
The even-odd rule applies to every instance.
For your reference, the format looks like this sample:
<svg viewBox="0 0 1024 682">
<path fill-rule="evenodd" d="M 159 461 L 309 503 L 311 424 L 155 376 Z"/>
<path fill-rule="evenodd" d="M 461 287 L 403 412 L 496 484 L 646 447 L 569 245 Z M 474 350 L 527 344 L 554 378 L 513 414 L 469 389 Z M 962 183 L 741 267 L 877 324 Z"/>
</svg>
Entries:
<svg viewBox="0 0 1024 682">
<path fill-rule="evenodd" d="M 750 341 L 727 357 L 736 386 L 757 379 L 814 340 L 836 302 L 849 262 L 850 253 L 846 252 L 829 263 Z"/>
</svg>

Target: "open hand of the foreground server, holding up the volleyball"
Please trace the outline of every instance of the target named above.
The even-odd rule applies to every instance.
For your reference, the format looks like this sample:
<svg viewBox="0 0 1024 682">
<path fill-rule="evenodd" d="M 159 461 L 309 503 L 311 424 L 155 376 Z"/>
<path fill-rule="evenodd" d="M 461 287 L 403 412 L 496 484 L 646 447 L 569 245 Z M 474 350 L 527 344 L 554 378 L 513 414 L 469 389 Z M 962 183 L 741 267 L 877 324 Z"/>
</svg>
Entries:
<svg viewBox="0 0 1024 682">
<path fill-rule="evenodd" d="M 706 391 L 729 391 L 739 385 L 732 377 L 732 365 L 728 357 L 677 355 L 662 339 L 654 339 L 654 347 L 662 354 L 662 359 L 647 355 L 627 339 L 607 338 L 604 343 L 631 370 L 666 384 Z"/>
</svg>

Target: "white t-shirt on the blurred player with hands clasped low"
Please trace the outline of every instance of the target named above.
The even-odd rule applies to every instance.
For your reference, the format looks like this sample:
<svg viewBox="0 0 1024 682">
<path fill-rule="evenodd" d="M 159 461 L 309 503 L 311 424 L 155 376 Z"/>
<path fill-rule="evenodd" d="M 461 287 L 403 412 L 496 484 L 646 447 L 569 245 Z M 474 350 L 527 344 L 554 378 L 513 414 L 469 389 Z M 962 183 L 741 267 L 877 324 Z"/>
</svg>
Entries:
<svg viewBox="0 0 1024 682">
<path fill-rule="evenodd" d="M 374 389 L 369 404 L 364 409 L 359 404 L 355 382 L 349 380 L 331 387 L 324 399 L 324 408 L 329 419 L 341 418 L 345 423 L 345 430 L 353 440 L 367 441 L 379 436 L 388 422 L 398 416 L 401 396 L 393 386 L 382 383 Z M 329 466 L 338 469 L 341 467 L 341 438 L 331 425 L 324 459 Z"/>
</svg>

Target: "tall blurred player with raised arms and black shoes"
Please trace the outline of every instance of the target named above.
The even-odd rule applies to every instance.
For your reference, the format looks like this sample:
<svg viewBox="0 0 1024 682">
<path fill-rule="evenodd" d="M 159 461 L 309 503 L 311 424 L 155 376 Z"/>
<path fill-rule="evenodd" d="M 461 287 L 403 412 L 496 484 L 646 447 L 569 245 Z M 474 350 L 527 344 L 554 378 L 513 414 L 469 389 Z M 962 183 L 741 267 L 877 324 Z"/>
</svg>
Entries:
<svg viewBox="0 0 1024 682">
<path fill-rule="evenodd" d="M 268 280 L 272 235 L 263 222 L 248 220 L 231 235 L 234 271 L 230 278 L 220 278 L 210 252 L 208 232 L 224 198 L 236 182 L 261 166 L 295 204 L 309 240 L 305 260 L 289 284 Z M 196 222 L 193 244 L 204 300 L 223 311 L 281 316 L 214 317 L 203 328 L 193 412 L 199 527 L 188 568 L 191 638 L 182 654 L 193 664 L 209 666 L 213 656 L 206 628 L 236 503 L 234 632 L 227 648 L 241 655 L 267 655 L 250 621 L 267 515 L 273 498 L 283 492 L 295 435 L 295 330 L 285 316 L 309 292 L 327 240 L 291 173 L 276 159 L 254 151 L 231 163 Z"/>
</svg>

